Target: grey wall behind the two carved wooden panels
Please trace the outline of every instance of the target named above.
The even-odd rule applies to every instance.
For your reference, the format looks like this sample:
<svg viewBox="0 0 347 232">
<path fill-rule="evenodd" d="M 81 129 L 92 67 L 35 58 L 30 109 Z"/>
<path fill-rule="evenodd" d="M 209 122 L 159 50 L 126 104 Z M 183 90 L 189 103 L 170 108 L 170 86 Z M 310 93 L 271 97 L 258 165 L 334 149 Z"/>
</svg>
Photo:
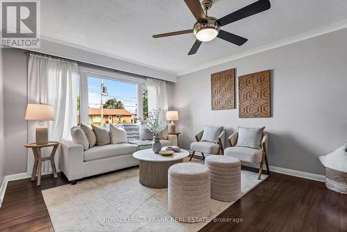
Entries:
<svg viewBox="0 0 347 232">
<path fill-rule="evenodd" d="M 188 149 L 205 125 L 225 126 L 228 135 L 237 126 L 266 126 L 270 165 L 323 174 L 317 156 L 347 142 L 346 38 L 347 29 L 335 31 L 178 77 L 180 145 Z M 236 76 L 271 69 L 272 117 L 240 119 L 238 109 L 211 110 L 210 74 L 230 68 Z"/>
</svg>

